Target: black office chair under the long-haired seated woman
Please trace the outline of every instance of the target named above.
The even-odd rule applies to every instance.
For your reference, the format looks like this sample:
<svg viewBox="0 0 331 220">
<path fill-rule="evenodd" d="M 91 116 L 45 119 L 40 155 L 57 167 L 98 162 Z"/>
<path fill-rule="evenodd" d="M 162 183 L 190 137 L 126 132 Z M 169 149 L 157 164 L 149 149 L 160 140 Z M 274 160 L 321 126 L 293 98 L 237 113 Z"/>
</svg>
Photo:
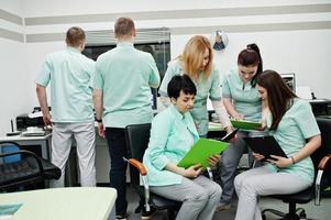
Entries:
<svg viewBox="0 0 331 220">
<path fill-rule="evenodd" d="M 297 204 L 308 204 L 315 198 L 315 205 L 319 206 L 321 200 L 321 193 L 331 186 L 331 120 L 317 118 L 317 123 L 321 131 L 322 143 L 321 146 L 311 154 L 311 160 L 315 165 L 316 180 L 311 187 L 291 195 L 272 195 L 271 197 L 280 199 L 288 204 L 288 213 L 275 209 L 264 209 L 262 218 L 265 220 L 266 212 L 272 212 L 282 217 L 285 220 L 306 219 L 305 209 L 296 208 Z"/>
</svg>

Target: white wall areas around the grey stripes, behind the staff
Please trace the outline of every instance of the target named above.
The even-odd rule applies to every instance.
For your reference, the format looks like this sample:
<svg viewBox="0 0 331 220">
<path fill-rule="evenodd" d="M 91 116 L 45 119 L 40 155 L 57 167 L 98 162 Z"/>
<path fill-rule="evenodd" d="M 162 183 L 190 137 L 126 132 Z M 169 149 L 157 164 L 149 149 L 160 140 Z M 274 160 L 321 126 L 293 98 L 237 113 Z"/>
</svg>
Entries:
<svg viewBox="0 0 331 220">
<path fill-rule="evenodd" d="M 11 13 L 23 18 L 60 16 L 60 15 L 90 15 L 100 13 L 153 12 L 164 10 L 191 10 L 191 9 L 222 9 L 222 8 L 247 8 L 272 6 L 300 6 L 331 3 L 331 0 L 0 0 L 0 7 Z M 297 14 L 268 14 L 268 15 L 236 15 L 218 18 L 189 18 L 159 20 L 136 20 L 136 28 L 180 29 L 189 26 L 227 26 L 245 24 L 268 24 L 331 21 L 331 13 L 297 13 Z M 67 23 L 47 25 L 18 26 L 2 22 L 0 28 L 21 31 L 24 34 L 64 33 L 71 25 L 79 25 L 87 31 L 112 29 L 114 21 Z M 202 33 L 207 36 L 214 30 Z M 172 56 L 181 53 L 185 43 L 191 36 L 172 34 Z M 216 54 L 216 64 L 221 73 L 227 72 L 236 64 L 238 53 L 249 43 L 257 43 L 264 61 L 264 68 L 272 68 L 279 73 L 295 73 L 297 84 L 310 86 L 318 98 L 331 98 L 329 74 L 331 73 L 331 29 L 309 31 L 271 31 L 271 32 L 242 32 L 228 33 L 229 45 L 225 51 Z M 4 103 L 4 110 L 0 114 L 0 134 L 9 131 L 9 121 L 19 113 L 29 112 L 37 100 L 33 80 L 40 70 L 40 66 L 49 52 L 64 47 L 63 41 L 45 43 L 21 44 L 0 38 L 1 72 L 11 73 L 5 78 L 0 75 L 0 100 Z M 3 64 L 2 64 L 3 63 Z M 13 82 L 15 85 L 13 85 Z M 9 89 L 15 87 L 9 95 Z M 21 98 L 22 94 L 24 99 Z M 13 97 L 10 102 L 8 97 Z M 2 100 L 5 100 L 3 102 Z M 2 108 L 3 109 L 3 108 Z"/>
</svg>

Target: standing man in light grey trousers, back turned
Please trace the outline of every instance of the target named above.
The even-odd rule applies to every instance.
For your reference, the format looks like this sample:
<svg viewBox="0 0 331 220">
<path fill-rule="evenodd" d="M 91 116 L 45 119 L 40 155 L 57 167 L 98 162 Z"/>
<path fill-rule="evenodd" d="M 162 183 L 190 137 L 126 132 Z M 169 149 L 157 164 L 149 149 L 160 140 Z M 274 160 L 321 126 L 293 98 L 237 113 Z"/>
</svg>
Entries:
<svg viewBox="0 0 331 220">
<path fill-rule="evenodd" d="M 77 143 L 80 185 L 96 186 L 96 133 L 92 108 L 92 72 L 95 62 L 81 54 L 85 32 L 73 26 L 66 33 L 67 48 L 51 53 L 36 77 L 36 95 L 45 124 L 53 123 L 52 163 L 62 170 L 53 187 L 64 186 L 65 164 L 73 138 Z M 48 111 L 46 87 L 51 82 L 52 116 Z"/>
</svg>

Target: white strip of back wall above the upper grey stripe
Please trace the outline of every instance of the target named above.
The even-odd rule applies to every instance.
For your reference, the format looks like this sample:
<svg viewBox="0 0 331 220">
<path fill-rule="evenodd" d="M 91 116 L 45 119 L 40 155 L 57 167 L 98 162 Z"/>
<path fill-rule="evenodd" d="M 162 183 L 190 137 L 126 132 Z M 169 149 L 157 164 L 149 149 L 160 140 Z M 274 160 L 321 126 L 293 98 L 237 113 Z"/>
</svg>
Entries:
<svg viewBox="0 0 331 220">
<path fill-rule="evenodd" d="M 330 3 L 330 0 L 23 0 L 24 16 Z"/>
</svg>

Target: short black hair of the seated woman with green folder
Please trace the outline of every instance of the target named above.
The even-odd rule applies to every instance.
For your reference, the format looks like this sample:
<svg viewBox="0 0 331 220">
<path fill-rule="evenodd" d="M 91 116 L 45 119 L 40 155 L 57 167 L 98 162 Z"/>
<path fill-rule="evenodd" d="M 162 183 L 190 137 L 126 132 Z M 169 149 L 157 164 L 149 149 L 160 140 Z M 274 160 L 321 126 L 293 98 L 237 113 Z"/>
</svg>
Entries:
<svg viewBox="0 0 331 220">
<path fill-rule="evenodd" d="M 194 81 L 187 75 L 176 75 L 172 78 L 168 84 L 167 92 L 169 98 L 177 99 L 183 91 L 185 95 L 194 95 L 197 94 L 197 88 Z"/>
</svg>

